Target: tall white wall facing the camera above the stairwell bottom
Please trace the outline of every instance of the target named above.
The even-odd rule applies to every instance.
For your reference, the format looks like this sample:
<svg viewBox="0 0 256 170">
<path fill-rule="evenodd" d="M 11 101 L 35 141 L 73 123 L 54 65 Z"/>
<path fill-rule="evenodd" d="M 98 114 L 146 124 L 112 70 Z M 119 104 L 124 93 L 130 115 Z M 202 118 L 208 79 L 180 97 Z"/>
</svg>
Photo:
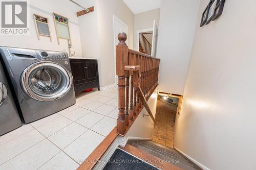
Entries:
<svg viewBox="0 0 256 170">
<path fill-rule="evenodd" d="M 159 90 L 183 94 L 200 0 L 162 0 L 157 56 Z"/>
</svg>

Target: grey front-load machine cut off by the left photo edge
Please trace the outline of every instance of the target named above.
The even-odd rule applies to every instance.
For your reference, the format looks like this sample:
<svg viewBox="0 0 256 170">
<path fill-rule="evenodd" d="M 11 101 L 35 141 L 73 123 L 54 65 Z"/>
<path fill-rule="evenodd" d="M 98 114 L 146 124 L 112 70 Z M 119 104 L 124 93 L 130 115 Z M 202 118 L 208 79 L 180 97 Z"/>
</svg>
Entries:
<svg viewBox="0 0 256 170">
<path fill-rule="evenodd" d="M 20 126 L 22 126 L 22 122 L 0 62 L 0 136 Z"/>
</svg>

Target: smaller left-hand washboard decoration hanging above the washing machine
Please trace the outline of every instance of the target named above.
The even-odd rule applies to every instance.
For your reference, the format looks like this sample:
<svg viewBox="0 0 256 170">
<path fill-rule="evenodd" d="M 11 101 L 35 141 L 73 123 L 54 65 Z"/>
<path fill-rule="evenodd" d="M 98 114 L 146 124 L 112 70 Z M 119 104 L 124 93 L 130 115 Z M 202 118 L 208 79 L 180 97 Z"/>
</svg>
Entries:
<svg viewBox="0 0 256 170">
<path fill-rule="evenodd" d="M 37 14 L 33 14 L 33 18 L 35 21 L 37 39 L 40 40 L 40 36 L 46 36 L 49 37 L 50 41 L 52 42 L 51 30 L 48 23 L 49 19 Z"/>
</svg>

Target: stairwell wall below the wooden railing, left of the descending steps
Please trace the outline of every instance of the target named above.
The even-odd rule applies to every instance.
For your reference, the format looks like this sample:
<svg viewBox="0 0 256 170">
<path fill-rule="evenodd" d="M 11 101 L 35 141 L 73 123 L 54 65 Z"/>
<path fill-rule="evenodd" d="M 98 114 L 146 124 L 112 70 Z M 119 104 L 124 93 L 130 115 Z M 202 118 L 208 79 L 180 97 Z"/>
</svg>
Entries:
<svg viewBox="0 0 256 170">
<path fill-rule="evenodd" d="M 148 106 L 150 106 L 150 109 L 152 111 L 152 114 L 154 117 L 156 117 L 156 109 L 157 109 L 157 93 L 158 88 L 155 89 L 153 94 L 151 95 L 151 98 L 147 101 Z M 133 126 L 129 129 L 129 131 L 125 134 L 125 138 L 150 138 L 153 137 L 153 130 L 154 130 L 154 122 L 151 119 L 150 116 L 144 116 L 143 114 L 148 115 L 145 108 L 142 109 L 138 117 L 136 118 L 135 122 L 133 123 Z"/>
</svg>

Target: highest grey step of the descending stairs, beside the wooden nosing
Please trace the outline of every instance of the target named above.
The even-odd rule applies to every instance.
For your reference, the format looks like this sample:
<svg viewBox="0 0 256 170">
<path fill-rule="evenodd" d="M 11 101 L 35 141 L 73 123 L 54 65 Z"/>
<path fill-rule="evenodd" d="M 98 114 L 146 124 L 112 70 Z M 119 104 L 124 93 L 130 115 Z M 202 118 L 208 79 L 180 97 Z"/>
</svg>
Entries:
<svg viewBox="0 0 256 170">
<path fill-rule="evenodd" d="M 178 166 L 178 167 L 180 167 L 180 168 L 182 168 L 182 169 L 184 169 L 184 170 L 195 170 L 195 168 L 193 167 L 193 165 L 190 164 L 190 163 L 185 164 L 185 163 L 181 162 L 180 160 L 173 160 L 173 159 L 171 159 L 171 158 L 168 158 L 168 157 L 166 157 L 166 156 L 163 156 L 163 155 L 161 155 L 161 154 L 158 154 L 158 153 L 156 153 L 156 152 L 154 152 L 154 151 L 151 151 L 151 150 L 149 150 L 149 149 L 147 149 L 147 148 L 145 148 L 145 147 L 143 147 L 143 146 L 141 146 L 141 145 L 139 145 L 139 144 L 137 144 L 137 143 L 133 143 L 133 144 L 134 144 L 134 147 L 136 147 L 136 148 L 138 148 L 138 149 L 140 149 L 140 150 L 142 150 L 142 151 L 144 151 L 144 152 L 147 152 L 148 154 L 151 154 L 151 155 L 153 155 L 153 156 L 156 156 L 156 157 L 158 157 L 158 158 L 160 158 L 160 159 L 162 159 L 162 160 L 164 160 L 164 161 L 167 161 L 168 163 L 174 164 L 174 165 L 176 165 L 176 166 Z M 179 161 L 179 163 L 175 163 L 175 162 L 173 162 L 173 161 Z"/>
</svg>

